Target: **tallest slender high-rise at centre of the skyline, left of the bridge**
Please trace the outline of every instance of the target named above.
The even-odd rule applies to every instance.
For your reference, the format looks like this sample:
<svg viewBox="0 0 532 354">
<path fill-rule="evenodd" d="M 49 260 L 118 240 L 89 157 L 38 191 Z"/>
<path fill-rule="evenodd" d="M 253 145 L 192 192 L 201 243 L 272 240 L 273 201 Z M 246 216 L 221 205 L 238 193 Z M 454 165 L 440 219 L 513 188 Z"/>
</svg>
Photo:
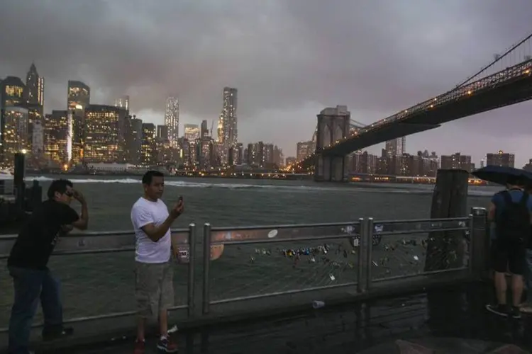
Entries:
<svg viewBox="0 0 532 354">
<path fill-rule="evenodd" d="M 223 147 L 223 164 L 227 164 L 229 148 L 238 142 L 237 93 L 237 89 L 223 88 L 223 108 L 218 120 L 218 142 Z"/>
</svg>

